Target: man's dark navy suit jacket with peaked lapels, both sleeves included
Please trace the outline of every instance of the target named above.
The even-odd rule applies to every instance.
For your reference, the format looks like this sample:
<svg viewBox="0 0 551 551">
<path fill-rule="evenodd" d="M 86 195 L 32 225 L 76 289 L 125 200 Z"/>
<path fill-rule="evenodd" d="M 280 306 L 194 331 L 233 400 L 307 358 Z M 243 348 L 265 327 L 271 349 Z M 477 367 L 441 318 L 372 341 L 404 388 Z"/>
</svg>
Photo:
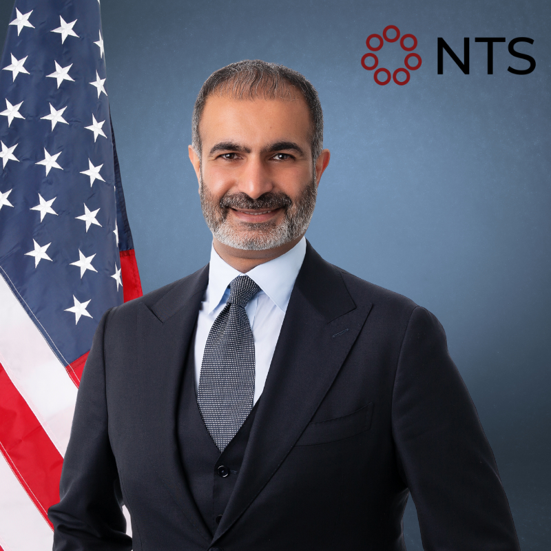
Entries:
<svg viewBox="0 0 551 551">
<path fill-rule="evenodd" d="M 213 538 L 176 435 L 207 282 L 208 266 L 103 316 L 61 502 L 49 511 L 54 550 L 404 550 L 409 493 L 426 550 L 519 549 L 492 450 L 438 320 L 311 245 Z"/>
</svg>

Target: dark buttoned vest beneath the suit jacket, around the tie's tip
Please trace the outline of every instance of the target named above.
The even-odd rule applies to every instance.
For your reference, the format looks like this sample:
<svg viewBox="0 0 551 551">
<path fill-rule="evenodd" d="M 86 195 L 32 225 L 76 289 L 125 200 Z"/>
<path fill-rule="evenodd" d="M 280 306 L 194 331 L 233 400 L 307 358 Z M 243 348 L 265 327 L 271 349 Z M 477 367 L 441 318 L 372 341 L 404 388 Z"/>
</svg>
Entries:
<svg viewBox="0 0 551 551">
<path fill-rule="evenodd" d="M 214 444 L 202 420 L 195 393 L 194 338 L 190 340 L 178 404 L 178 445 L 191 495 L 214 535 L 236 485 L 249 442 L 258 400 L 225 450 Z"/>
</svg>

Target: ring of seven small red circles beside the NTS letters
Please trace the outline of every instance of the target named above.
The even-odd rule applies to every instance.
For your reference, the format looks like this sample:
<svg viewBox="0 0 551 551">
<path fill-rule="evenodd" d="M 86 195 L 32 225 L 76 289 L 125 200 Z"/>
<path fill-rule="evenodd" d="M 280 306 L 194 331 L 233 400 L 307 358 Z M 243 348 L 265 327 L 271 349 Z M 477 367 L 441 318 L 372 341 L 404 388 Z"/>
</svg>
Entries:
<svg viewBox="0 0 551 551">
<path fill-rule="evenodd" d="M 388 38 L 389 30 L 393 30 L 396 33 L 395 37 Z M 415 48 L 417 48 L 417 39 L 413 36 L 413 34 L 404 34 L 404 36 L 400 39 L 400 31 L 396 25 L 387 25 L 383 30 L 382 37 L 380 34 L 370 34 L 367 37 L 366 46 L 368 50 L 371 50 L 371 52 L 378 52 L 384 46 L 385 41 L 396 42 L 398 39 L 400 41 L 400 46 L 402 46 L 402 50 L 404 50 L 404 52 L 412 52 L 413 50 L 415 50 Z M 372 40 L 377 40 L 377 44 L 375 46 L 371 45 Z M 409 45 L 406 45 L 406 40 L 408 41 Z M 413 41 L 413 43 L 411 41 Z M 379 58 L 371 52 L 368 52 L 362 57 L 362 67 L 364 67 L 364 69 L 367 71 L 373 71 L 377 68 L 377 65 L 379 65 Z M 412 59 L 415 59 L 415 65 L 410 65 Z M 371 65 L 366 64 L 366 61 L 368 60 L 372 61 Z M 404 69 L 404 67 L 399 67 L 393 72 L 391 76 L 391 72 L 388 69 L 380 67 L 375 71 L 375 73 L 373 73 L 373 80 L 375 80 L 377 84 L 384 86 L 388 84 L 392 79 L 397 85 L 404 86 L 404 84 L 407 84 L 409 82 L 409 71 L 417 71 L 417 69 L 421 67 L 421 61 L 421 56 L 419 54 L 407 54 L 404 59 L 404 65 L 406 65 L 407 69 Z M 384 80 L 381 79 L 381 73 L 384 74 Z M 398 75 L 400 73 L 403 73 L 405 76 L 405 79 L 403 81 L 398 80 Z"/>
</svg>

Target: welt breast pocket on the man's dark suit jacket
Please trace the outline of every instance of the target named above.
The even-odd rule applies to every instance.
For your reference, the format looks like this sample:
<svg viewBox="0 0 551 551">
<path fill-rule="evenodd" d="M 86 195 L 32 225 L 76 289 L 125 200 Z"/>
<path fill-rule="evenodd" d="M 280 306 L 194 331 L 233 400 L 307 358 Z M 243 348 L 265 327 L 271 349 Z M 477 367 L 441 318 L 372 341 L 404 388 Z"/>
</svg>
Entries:
<svg viewBox="0 0 551 551">
<path fill-rule="evenodd" d="M 309 423 L 295 446 L 327 444 L 364 433 L 371 428 L 373 402 L 349 415 Z"/>
</svg>

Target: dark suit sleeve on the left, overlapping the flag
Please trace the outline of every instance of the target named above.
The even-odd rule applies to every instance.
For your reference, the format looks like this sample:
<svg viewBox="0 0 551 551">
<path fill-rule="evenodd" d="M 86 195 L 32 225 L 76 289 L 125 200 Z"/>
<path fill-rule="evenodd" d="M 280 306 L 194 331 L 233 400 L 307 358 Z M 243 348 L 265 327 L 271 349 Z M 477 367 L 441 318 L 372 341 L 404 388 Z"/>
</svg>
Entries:
<svg viewBox="0 0 551 551">
<path fill-rule="evenodd" d="M 103 339 L 107 311 L 96 329 L 76 397 L 61 472 L 61 501 L 50 507 L 54 551 L 129 551 L 121 486 L 107 433 Z"/>
</svg>

